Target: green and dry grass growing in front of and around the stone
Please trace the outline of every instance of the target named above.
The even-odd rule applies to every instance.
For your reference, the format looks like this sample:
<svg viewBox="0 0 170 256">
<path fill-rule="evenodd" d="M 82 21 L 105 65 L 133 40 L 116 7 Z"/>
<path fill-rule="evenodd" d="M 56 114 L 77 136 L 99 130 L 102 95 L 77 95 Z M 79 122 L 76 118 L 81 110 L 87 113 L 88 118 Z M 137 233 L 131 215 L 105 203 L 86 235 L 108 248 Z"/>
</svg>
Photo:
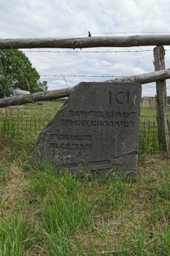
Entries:
<svg viewBox="0 0 170 256">
<path fill-rule="evenodd" d="M 49 117 L 61 105 L 23 110 Z M 142 115 L 151 112 L 142 109 Z M 170 255 L 170 160 L 164 152 L 146 151 L 147 141 L 141 142 L 136 181 L 116 173 L 78 179 L 50 166 L 25 171 L 36 137 L 1 136 L 0 256 Z"/>
</svg>

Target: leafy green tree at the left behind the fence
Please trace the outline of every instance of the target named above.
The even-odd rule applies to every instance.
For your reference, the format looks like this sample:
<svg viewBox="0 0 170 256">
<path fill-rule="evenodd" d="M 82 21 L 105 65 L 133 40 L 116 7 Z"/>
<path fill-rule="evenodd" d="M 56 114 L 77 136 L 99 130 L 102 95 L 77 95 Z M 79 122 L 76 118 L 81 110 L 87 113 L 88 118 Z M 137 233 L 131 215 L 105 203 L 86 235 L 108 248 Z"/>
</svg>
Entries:
<svg viewBox="0 0 170 256">
<path fill-rule="evenodd" d="M 9 97 L 15 88 L 41 92 L 48 89 L 28 57 L 18 49 L 0 50 L 0 98 Z"/>
</svg>

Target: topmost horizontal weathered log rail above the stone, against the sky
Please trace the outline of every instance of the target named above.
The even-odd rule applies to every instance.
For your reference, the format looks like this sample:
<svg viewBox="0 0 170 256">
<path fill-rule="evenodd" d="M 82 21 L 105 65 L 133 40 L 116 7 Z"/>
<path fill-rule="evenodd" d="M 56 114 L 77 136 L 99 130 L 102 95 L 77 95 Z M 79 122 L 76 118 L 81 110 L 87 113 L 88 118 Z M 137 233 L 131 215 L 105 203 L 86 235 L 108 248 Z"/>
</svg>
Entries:
<svg viewBox="0 0 170 256">
<path fill-rule="evenodd" d="M 169 46 L 170 35 L 0 39 L 0 49 Z"/>
</svg>

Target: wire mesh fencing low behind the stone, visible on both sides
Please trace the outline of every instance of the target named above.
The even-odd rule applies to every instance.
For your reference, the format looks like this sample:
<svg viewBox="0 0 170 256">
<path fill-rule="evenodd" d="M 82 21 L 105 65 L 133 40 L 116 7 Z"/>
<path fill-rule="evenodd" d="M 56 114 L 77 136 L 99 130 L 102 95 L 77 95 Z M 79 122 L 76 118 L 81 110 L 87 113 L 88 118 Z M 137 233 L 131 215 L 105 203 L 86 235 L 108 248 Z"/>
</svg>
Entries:
<svg viewBox="0 0 170 256">
<path fill-rule="evenodd" d="M 20 135 L 37 138 L 41 130 L 54 117 L 54 113 L 44 115 L 12 115 L 0 117 L 1 138 Z M 158 150 L 158 125 L 156 121 L 142 120 L 140 122 L 139 148 L 141 151 Z"/>
</svg>

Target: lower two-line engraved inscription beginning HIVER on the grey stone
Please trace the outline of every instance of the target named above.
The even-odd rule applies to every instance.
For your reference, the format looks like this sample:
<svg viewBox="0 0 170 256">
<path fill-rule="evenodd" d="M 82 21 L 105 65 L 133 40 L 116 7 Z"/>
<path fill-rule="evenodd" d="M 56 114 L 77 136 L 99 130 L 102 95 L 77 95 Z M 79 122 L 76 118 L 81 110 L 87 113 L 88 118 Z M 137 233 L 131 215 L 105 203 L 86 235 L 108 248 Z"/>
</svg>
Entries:
<svg viewBox="0 0 170 256">
<path fill-rule="evenodd" d="M 50 134 L 50 144 L 53 144 L 55 149 L 91 150 L 91 135 Z"/>
</svg>

